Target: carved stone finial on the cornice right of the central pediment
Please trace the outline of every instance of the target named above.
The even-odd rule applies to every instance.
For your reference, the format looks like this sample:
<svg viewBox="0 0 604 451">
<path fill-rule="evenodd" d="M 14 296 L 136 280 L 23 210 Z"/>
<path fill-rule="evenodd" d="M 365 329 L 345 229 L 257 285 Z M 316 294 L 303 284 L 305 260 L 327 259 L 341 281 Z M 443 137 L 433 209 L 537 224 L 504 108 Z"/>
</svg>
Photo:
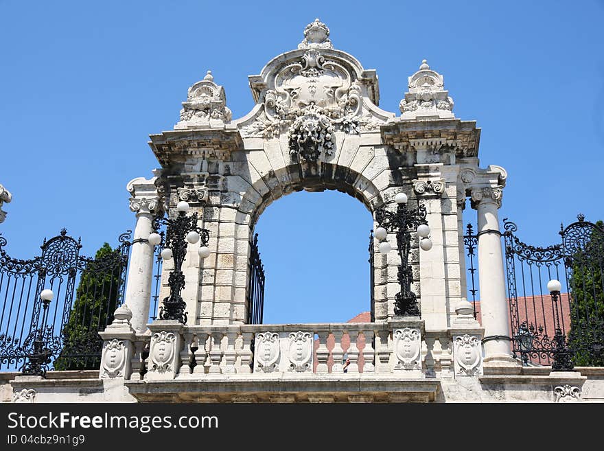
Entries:
<svg viewBox="0 0 604 451">
<path fill-rule="evenodd" d="M 422 60 L 419 70 L 409 77 L 409 91 L 399 104 L 403 119 L 450 119 L 453 99 L 445 91 L 443 76 Z"/>
</svg>

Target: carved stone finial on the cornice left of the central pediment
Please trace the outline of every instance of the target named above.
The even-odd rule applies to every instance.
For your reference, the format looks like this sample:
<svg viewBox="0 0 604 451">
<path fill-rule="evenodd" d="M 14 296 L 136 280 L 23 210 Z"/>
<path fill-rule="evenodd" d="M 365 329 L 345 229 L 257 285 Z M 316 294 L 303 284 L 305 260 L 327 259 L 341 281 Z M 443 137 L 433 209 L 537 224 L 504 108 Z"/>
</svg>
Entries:
<svg viewBox="0 0 604 451">
<path fill-rule="evenodd" d="M 203 80 L 189 88 L 187 101 L 183 102 L 181 120 L 174 128 L 222 127 L 231 122 L 231 117 L 224 89 L 214 83 L 212 71 L 207 71 Z"/>
</svg>

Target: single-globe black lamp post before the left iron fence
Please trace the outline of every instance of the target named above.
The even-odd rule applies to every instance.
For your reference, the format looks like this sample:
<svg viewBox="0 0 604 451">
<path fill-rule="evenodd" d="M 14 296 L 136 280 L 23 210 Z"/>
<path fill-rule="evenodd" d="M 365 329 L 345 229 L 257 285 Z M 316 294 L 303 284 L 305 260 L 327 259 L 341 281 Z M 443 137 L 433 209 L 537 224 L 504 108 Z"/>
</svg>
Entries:
<svg viewBox="0 0 604 451">
<path fill-rule="evenodd" d="M 47 340 L 51 340 L 52 337 L 52 326 L 47 327 L 48 321 L 48 306 L 50 301 L 54 298 L 52 290 L 42 290 L 40 293 L 40 299 L 42 299 L 42 319 L 38 327 L 32 331 L 33 341 L 31 351 L 27 353 L 27 360 L 23 364 L 22 373 L 28 375 L 39 375 L 43 378 L 46 377 L 47 365 L 51 362 L 51 357 L 54 351 L 46 343 Z M 27 340 L 30 341 L 30 340 Z M 27 347 L 27 343 L 25 345 Z"/>
</svg>

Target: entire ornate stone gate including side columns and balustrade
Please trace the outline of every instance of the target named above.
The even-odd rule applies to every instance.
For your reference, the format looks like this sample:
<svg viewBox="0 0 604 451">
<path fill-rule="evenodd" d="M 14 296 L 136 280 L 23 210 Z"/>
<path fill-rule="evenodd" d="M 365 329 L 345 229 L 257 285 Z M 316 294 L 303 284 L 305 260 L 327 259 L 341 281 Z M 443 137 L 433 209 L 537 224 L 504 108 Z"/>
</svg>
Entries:
<svg viewBox="0 0 604 451">
<path fill-rule="evenodd" d="M 455 117 L 440 73 L 423 60 L 408 77 L 400 112 L 384 111 L 376 71 L 335 49 L 316 19 L 297 49 L 270 60 L 249 86 L 255 106 L 233 119 L 208 71 L 189 88 L 174 130 L 150 135 L 161 167 L 128 183 L 137 225 L 126 301 L 102 332 L 102 367 L 90 384 L 139 401 L 552 402 L 566 396 L 559 395 L 564 386 L 577 388 L 567 390 L 574 393 L 568 400 L 580 400 L 585 375 L 529 371 L 511 356 L 498 220 L 507 172 L 480 167 L 480 128 Z M 394 252 L 376 252 L 375 321 L 246 324 L 255 224 L 270 203 L 303 189 L 345 192 L 374 218 L 400 192 L 426 206 L 432 247 L 424 251 L 414 237 L 410 257 L 421 316 L 395 315 L 401 262 Z M 476 217 L 463 216 L 467 198 Z M 187 324 L 148 323 L 152 218 L 176 215 L 183 200 L 209 230 L 210 255 L 201 259 L 200 244 L 188 246 Z M 463 220 L 474 218 L 481 323 L 465 300 Z M 386 240 L 395 244 L 393 235 Z M 164 263 L 160 299 L 172 269 Z M 46 383 L 12 385 L 35 386 L 50 399 Z"/>
</svg>

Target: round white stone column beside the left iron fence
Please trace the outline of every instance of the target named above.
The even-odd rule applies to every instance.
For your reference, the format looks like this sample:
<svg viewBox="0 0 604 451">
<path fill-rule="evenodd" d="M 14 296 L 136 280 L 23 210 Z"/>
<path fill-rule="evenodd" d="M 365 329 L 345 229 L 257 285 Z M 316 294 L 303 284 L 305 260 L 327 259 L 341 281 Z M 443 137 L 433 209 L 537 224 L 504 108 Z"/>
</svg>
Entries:
<svg viewBox="0 0 604 451">
<path fill-rule="evenodd" d="M 156 177 L 150 180 L 139 177 L 126 185 L 132 194 L 130 210 L 137 215 L 137 225 L 130 253 L 125 303 L 132 311 L 130 322 L 138 334 L 146 332 L 149 319 L 154 255 L 148 238 L 152 231 L 152 216 L 163 208 L 155 181 Z"/>
</svg>

